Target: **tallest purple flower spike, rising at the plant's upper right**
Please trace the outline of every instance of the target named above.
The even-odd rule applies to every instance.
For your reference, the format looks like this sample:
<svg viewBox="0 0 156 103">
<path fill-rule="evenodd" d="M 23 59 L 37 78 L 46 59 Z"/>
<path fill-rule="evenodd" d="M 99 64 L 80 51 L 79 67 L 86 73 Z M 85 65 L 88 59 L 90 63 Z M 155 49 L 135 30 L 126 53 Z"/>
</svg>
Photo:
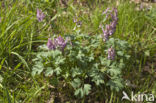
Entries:
<svg viewBox="0 0 156 103">
<path fill-rule="evenodd" d="M 116 25 L 118 21 L 118 17 L 117 17 L 118 13 L 117 13 L 116 8 L 114 8 L 110 12 L 109 12 L 109 8 L 107 8 L 103 14 L 106 14 L 106 18 L 108 17 L 108 15 L 111 15 L 111 19 L 112 19 L 112 22 L 110 24 L 107 24 L 105 29 L 102 27 L 103 41 L 107 41 L 109 39 L 109 36 L 111 36 L 116 30 Z"/>
</svg>

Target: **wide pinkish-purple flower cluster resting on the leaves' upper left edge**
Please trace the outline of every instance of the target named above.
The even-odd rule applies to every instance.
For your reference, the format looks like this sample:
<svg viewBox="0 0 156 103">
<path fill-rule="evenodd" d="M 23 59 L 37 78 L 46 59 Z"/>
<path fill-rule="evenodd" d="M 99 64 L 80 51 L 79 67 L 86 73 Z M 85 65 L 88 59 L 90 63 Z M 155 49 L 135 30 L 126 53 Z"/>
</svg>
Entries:
<svg viewBox="0 0 156 103">
<path fill-rule="evenodd" d="M 64 51 L 67 42 L 68 39 L 64 40 L 61 36 L 55 38 L 54 41 L 49 38 L 47 42 L 47 47 L 49 48 L 49 50 L 55 50 L 56 48 L 59 48 L 61 51 Z"/>
</svg>

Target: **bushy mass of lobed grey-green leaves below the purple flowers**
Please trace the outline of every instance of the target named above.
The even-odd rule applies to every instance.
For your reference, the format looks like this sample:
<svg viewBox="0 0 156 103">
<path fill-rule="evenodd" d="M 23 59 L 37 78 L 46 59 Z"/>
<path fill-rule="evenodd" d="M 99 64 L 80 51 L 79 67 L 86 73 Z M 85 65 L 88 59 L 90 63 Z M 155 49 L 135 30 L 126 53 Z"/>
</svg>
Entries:
<svg viewBox="0 0 156 103">
<path fill-rule="evenodd" d="M 116 91 L 123 88 L 121 71 L 130 57 L 126 41 L 111 38 L 103 42 L 99 35 L 86 34 L 68 38 L 70 41 L 63 51 L 60 48 L 49 49 L 46 45 L 39 47 L 40 51 L 33 60 L 33 76 L 43 73 L 60 82 L 65 81 L 81 98 L 92 92 L 93 85 L 109 86 Z M 109 58 L 110 48 L 115 49 L 113 59 Z"/>
</svg>

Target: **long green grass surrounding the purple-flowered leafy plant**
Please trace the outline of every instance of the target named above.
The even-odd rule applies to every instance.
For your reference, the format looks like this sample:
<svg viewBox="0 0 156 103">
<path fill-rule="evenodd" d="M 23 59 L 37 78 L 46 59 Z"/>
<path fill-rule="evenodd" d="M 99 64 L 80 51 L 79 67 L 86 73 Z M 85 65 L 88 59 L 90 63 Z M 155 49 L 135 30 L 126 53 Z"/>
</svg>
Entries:
<svg viewBox="0 0 156 103">
<path fill-rule="evenodd" d="M 80 0 L 75 3 L 69 0 L 66 6 L 60 0 L 5 0 L 0 1 L 0 5 L 0 76 L 3 77 L 0 103 L 45 103 L 53 97 L 53 89 L 48 85 L 50 80 L 44 76 L 31 76 L 37 47 L 46 43 L 49 35 L 74 33 L 75 16 L 82 21 L 81 32 L 102 34 L 99 25 L 104 23 L 104 17 L 101 14 L 107 7 L 114 7 L 116 2 Z M 136 4 L 130 4 L 128 0 L 120 0 L 117 6 L 119 21 L 114 37 L 132 45 L 131 62 L 123 70 L 124 79 L 130 84 L 124 91 L 152 92 L 156 97 L 156 8 L 136 11 L 135 7 Z M 47 15 L 44 22 L 37 21 L 37 8 Z M 108 94 L 105 102 L 121 103 L 122 92 L 110 92 L 105 90 L 105 95 Z M 71 102 L 83 102 L 73 96 L 68 97 L 70 101 L 69 98 L 73 99 Z"/>
</svg>

